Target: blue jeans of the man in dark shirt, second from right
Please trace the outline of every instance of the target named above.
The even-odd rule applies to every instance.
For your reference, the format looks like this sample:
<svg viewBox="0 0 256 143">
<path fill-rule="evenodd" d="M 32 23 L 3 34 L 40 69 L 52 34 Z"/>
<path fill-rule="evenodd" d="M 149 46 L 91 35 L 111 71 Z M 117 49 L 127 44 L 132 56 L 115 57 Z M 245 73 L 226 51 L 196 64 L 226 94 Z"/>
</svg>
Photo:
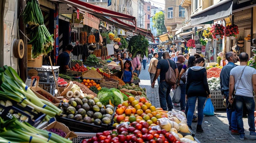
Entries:
<svg viewBox="0 0 256 143">
<path fill-rule="evenodd" d="M 224 95 L 226 96 L 226 104 L 229 103 L 229 92 L 224 92 Z M 227 108 L 227 120 L 229 121 L 229 126 L 233 130 L 237 130 L 237 124 L 236 124 L 236 112 L 232 111 L 232 109 Z"/>
</svg>

